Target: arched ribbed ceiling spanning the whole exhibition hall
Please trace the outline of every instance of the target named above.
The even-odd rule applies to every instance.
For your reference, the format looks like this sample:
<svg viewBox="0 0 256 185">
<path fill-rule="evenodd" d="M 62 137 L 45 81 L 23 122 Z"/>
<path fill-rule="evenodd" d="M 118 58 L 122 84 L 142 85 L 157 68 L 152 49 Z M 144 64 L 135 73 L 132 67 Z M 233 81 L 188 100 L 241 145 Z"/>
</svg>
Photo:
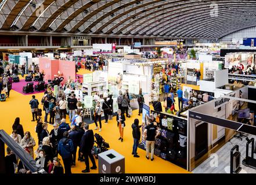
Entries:
<svg viewBox="0 0 256 185">
<path fill-rule="evenodd" d="M 1 31 L 222 38 L 254 25 L 255 0 L 0 0 Z"/>
</svg>

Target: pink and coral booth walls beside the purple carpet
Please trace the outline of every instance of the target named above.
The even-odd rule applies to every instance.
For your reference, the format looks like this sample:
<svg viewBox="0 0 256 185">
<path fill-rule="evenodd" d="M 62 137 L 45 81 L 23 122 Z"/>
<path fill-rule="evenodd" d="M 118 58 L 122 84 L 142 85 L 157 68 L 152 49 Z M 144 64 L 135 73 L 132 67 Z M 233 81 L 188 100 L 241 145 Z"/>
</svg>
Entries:
<svg viewBox="0 0 256 185">
<path fill-rule="evenodd" d="M 68 76 L 75 80 L 75 62 L 66 60 L 51 60 L 49 58 L 39 58 L 39 69 L 45 72 L 45 80 L 53 80 L 57 72 L 63 73 L 66 82 Z"/>
</svg>

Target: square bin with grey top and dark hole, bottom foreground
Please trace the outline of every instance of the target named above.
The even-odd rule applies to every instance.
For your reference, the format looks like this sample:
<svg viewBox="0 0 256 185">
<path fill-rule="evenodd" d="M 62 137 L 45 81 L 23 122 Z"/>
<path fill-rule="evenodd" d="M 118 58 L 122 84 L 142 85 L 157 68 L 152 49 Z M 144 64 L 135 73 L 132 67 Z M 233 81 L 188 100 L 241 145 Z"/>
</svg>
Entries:
<svg viewBox="0 0 256 185">
<path fill-rule="evenodd" d="M 98 155 L 99 173 L 125 173 L 124 156 L 111 149 Z"/>
</svg>

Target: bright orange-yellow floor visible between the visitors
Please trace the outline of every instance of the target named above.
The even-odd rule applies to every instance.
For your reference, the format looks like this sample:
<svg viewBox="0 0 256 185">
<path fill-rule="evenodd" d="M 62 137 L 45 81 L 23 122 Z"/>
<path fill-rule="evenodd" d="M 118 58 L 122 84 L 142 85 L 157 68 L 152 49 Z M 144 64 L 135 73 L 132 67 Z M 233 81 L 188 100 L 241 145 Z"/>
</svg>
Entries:
<svg viewBox="0 0 256 185">
<path fill-rule="evenodd" d="M 81 75 L 86 71 L 82 69 L 79 71 Z M 38 101 L 41 101 L 43 93 L 35 94 Z M 0 129 L 4 129 L 8 134 L 12 132 L 12 124 L 16 117 L 20 117 L 21 124 L 23 125 L 24 131 L 30 131 L 32 136 L 34 137 L 36 143 L 37 142 L 37 134 L 35 132 L 35 122 L 31 122 L 32 115 L 30 112 L 30 105 L 28 102 L 31 99 L 31 95 L 22 95 L 16 91 L 10 92 L 10 98 L 6 99 L 6 102 L 0 102 Z M 178 103 L 176 103 L 178 104 Z M 39 105 L 42 108 L 42 105 Z M 43 113 L 44 116 L 44 113 Z M 134 158 L 132 153 L 132 128 L 131 124 L 134 119 L 138 118 L 142 119 L 141 116 L 138 116 L 138 110 L 133 112 L 131 118 L 127 119 L 126 127 L 124 130 L 124 142 L 121 143 L 118 140 L 118 128 L 117 123 L 114 120 L 109 121 L 109 124 L 104 124 L 100 135 L 109 143 L 110 148 L 116 150 L 118 153 L 125 156 L 125 172 L 126 173 L 188 173 L 183 168 L 172 164 L 171 162 L 162 160 L 159 157 L 155 156 L 154 161 L 146 160 L 145 154 L 146 152 L 142 149 L 138 149 L 138 154 L 140 158 Z M 94 124 L 90 125 L 90 129 L 95 128 Z M 51 131 L 52 126 L 49 125 L 48 130 Z M 36 149 L 38 146 L 35 146 Z M 98 161 L 96 161 L 98 164 Z M 77 161 L 77 165 L 72 168 L 73 173 L 81 173 L 82 169 L 85 169 L 84 162 Z M 98 170 L 92 170 L 91 173 L 98 173 Z"/>
</svg>

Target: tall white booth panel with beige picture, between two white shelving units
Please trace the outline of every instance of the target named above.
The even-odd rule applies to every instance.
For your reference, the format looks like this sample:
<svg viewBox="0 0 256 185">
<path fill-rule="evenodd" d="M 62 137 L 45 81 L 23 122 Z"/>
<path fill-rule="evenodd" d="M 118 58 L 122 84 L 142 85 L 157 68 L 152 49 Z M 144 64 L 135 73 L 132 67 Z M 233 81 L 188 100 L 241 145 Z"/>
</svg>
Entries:
<svg viewBox="0 0 256 185">
<path fill-rule="evenodd" d="M 123 68 L 121 62 L 109 62 L 108 83 L 110 93 L 117 97 L 122 90 Z"/>
</svg>

